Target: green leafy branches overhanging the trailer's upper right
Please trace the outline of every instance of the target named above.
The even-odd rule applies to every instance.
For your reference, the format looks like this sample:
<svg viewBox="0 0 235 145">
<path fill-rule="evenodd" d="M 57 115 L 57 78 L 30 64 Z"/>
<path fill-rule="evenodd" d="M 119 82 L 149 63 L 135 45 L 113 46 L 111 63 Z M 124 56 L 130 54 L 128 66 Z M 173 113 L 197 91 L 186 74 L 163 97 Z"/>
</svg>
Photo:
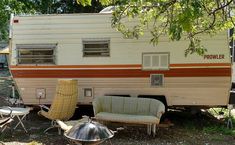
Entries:
<svg viewBox="0 0 235 145">
<path fill-rule="evenodd" d="M 90 0 L 77 0 L 89 3 Z M 138 39 L 150 32 L 150 42 L 157 45 L 159 37 L 170 40 L 188 39 L 185 55 L 202 55 L 206 48 L 201 45 L 200 34 L 214 35 L 234 26 L 233 0 L 100 0 L 115 4 L 112 26 L 125 37 Z M 128 27 L 126 22 L 135 22 Z"/>
</svg>

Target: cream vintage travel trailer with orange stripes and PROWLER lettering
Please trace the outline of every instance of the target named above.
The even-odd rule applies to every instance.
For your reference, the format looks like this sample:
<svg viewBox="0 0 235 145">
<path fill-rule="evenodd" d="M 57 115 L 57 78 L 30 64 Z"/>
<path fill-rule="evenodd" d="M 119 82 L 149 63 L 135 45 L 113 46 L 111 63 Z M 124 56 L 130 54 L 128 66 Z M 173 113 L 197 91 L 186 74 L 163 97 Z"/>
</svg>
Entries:
<svg viewBox="0 0 235 145">
<path fill-rule="evenodd" d="M 78 104 L 103 95 L 152 97 L 167 106 L 226 106 L 231 88 L 227 32 L 203 36 L 204 56 L 185 57 L 188 40 L 123 38 L 110 14 L 14 16 L 10 70 L 26 105 L 50 104 L 58 79 L 78 80 Z"/>
</svg>

